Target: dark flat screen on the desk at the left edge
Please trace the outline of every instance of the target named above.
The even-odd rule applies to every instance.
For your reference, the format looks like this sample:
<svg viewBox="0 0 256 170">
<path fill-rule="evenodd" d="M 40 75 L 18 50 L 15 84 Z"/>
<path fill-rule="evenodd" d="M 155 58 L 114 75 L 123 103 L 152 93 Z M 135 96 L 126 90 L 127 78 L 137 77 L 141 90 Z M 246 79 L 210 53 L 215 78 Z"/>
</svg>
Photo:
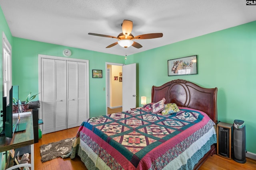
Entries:
<svg viewBox="0 0 256 170">
<path fill-rule="evenodd" d="M 9 90 L 9 101 L 7 104 L 7 97 L 3 97 L 3 131 L 1 133 L 4 134 L 6 137 L 12 138 L 17 123 L 18 123 L 18 117 L 12 116 L 12 98 L 13 98 L 13 86 Z"/>
</svg>

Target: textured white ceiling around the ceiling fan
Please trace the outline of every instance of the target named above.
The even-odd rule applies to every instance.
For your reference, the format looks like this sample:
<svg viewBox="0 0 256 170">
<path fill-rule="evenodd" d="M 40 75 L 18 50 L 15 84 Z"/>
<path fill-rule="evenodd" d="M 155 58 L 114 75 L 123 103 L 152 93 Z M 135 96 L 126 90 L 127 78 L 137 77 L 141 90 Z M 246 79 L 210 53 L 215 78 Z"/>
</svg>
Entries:
<svg viewBox="0 0 256 170">
<path fill-rule="evenodd" d="M 0 0 L 14 37 L 116 55 L 131 55 L 256 20 L 256 6 L 246 0 Z M 163 33 L 140 39 L 143 47 L 106 49 L 123 20 L 132 34 Z"/>
</svg>

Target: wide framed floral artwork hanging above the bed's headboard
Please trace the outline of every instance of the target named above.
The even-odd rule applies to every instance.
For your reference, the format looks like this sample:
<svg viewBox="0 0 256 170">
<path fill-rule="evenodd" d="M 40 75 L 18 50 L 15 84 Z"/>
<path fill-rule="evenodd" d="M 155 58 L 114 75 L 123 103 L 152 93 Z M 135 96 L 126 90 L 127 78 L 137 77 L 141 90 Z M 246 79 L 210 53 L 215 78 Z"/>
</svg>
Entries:
<svg viewBox="0 0 256 170">
<path fill-rule="evenodd" d="M 168 76 L 197 74 L 197 55 L 168 60 Z"/>
</svg>

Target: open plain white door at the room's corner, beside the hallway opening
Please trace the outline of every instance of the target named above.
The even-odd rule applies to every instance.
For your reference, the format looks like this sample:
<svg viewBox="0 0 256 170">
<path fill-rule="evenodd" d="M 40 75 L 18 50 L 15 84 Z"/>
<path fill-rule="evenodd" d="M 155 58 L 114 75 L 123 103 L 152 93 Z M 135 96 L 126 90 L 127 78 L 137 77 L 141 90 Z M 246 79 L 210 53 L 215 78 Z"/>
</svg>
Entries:
<svg viewBox="0 0 256 170">
<path fill-rule="evenodd" d="M 123 111 L 136 107 L 136 63 L 124 65 L 122 68 Z"/>
</svg>

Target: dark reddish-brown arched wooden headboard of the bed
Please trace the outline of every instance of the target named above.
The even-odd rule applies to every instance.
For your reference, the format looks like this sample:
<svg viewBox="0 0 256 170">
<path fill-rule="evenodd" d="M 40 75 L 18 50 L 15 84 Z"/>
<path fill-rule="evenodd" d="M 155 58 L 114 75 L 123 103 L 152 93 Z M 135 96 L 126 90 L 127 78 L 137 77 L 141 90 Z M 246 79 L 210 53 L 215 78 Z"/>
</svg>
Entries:
<svg viewBox="0 0 256 170">
<path fill-rule="evenodd" d="M 175 103 L 180 107 L 203 111 L 217 123 L 217 91 L 218 88 L 203 88 L 178 79 L 159 87 L 152 86 L 151 101 L 158 102 L 165 98 L 165 103 Z"/>
</svg>

